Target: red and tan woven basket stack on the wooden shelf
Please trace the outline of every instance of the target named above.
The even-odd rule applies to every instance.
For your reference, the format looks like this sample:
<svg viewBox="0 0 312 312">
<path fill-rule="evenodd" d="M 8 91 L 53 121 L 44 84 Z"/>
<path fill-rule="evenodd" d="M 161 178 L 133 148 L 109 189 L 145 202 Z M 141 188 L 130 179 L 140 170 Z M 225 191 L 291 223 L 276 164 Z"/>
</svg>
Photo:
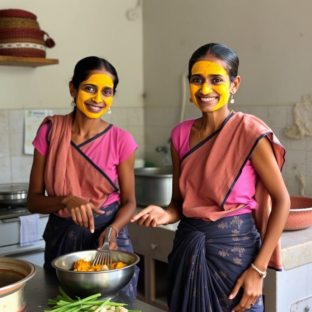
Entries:
<svg viewBox="0 0 312 312">
<path fill-rule="evenodd" d="M 54 45 L 40 29 L 36 15 L 19 9 L 0 10 L 0 55 L 46 57 L 46 47 Z"/>
</svg>

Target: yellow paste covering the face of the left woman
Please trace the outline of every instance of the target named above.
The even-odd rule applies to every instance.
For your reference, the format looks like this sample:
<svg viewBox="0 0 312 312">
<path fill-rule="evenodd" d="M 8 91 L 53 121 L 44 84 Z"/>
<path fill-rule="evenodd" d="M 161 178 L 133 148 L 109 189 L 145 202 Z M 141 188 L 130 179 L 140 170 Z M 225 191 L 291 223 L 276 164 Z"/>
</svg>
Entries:
<svg viewBox="0 0 312 312">
<path fill-rule="evenodd" d="M 93 85 L 95 91 L 93 92 L 85 90 L 85 85 Z M 107 87 L 113 89 L 114 83 L 109 76 L 103 74 L 92 75 L 87 80 L 81 82 L 78 96 L 76 99 L 76 105 L 79 110 L 81 110 L 89 118 L 98 118 L 103 115 L 110 108 L 110 105 L 113 101 L 113 94 L 111 94 L 110 96 L 107 96 L 105 94 L 105 97 L 103 98 L 103 89 Z M 101 103 L 103 101 L 106 106 L 100 112 L 92 113 L 85 106 L 85 101 L 90 99 L 92 99 L 95 103 Z M 89 104 L 92 103 L 89 102 Z"/>
</svg>

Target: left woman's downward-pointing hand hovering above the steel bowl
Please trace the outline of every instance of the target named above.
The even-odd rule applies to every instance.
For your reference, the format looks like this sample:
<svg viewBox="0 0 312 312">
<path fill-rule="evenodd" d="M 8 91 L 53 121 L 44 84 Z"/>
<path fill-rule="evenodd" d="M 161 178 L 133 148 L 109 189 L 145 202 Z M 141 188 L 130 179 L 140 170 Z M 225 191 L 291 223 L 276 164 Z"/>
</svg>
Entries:
<svg viewBox="0 0 312 312">
<path fill-rule="evenodd" d="M 92 212 L 104 214 L 105 212 L 96 208 L 92 203 L 74 195 L 66 196 L 62 203 L 66 206 L 71 214 L 73 222 L 94 232 L 94 218 Z"/>
</svg>

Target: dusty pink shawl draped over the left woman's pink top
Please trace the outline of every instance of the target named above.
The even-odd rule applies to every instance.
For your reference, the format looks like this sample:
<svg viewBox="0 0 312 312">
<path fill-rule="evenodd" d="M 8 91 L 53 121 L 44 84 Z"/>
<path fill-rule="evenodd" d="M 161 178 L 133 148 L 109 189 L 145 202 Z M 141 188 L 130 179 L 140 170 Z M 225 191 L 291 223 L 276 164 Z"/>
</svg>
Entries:
<svg viewBox="0 0 312 312">
<path fill-rule="evenodd" d="M 49 196 L 75 195 L 102 207 L 115 188 L 80 149 L 71 145 L 72 113 L 46 117 L 52 122 L 48 135 L 49 154 L 46 160 L 45 187 Z M 71 217 L 67 208 L 56 215 Z"/>
</svg>

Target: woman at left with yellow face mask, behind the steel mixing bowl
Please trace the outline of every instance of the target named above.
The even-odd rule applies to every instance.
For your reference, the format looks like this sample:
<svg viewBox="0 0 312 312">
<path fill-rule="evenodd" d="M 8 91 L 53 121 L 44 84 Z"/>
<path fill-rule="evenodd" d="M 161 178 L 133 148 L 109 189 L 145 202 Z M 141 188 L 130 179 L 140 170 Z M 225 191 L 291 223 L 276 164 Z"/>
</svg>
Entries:
<svg viewBox="0 0 312 312">
<path fill-rule="evenodd" d="M 80 60 L 69 83 L 74 111 L 44 119 L 33 141 L 27 208 L 49 214 L 43 234 L 48 270 L 54 270 L 51 261 L 57 256 L 99 250 L 108 227 L 110 249 L 133 252 L 126 224 L 136 208 L 138 145 L 128 132 L 101 119 L 110 111 L 117 84 L 108 61 L 95 56 Z M 138 273 L 136 267 L 122 290 L 134 298 Z"/>
</svg>

